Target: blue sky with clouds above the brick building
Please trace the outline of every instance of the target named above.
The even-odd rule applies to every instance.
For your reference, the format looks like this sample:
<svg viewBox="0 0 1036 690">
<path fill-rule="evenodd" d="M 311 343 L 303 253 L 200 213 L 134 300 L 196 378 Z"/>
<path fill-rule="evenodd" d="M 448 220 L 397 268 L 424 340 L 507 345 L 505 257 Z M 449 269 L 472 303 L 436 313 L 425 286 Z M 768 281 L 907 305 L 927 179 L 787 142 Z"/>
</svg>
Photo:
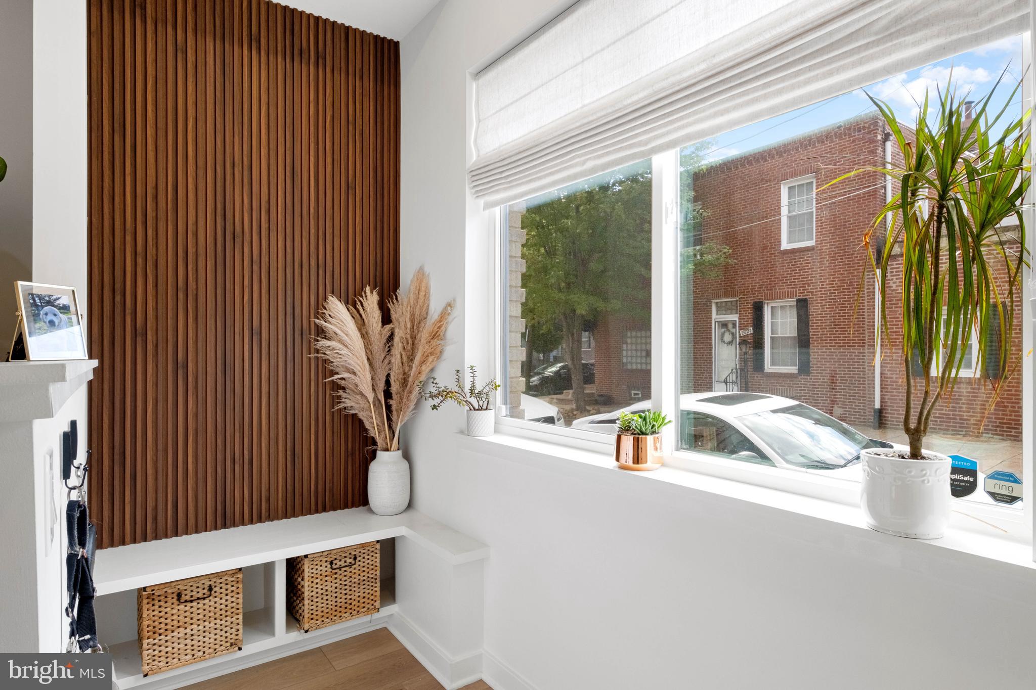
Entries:
<svg viewBox="0 0 1036 690">
<path fill-rule="evenodd" d="M 933 97 L 936 87 L 946 84 L 951 67 L 958 93 L 970 90 L 973 99 L 977 100 L 988 93 L 1000 72 L 1008 65 L 1009 76 L 1004 78 L 1004 84 L 994 98 L 992 106 L 999 109 L 1013 85 L 1021 78 L 1020 36 L 999 40 L 978 50 L 896 74 L 864 89 L 892 106 L 901 122 L 910 123 L 917 118 L 917 102 L 924 98 L 925 88 L 930 90 Z M 873 108 L 864 95 L 864 89 L 720 134 L 712 140 L 706 159 L 717 160 L 737 155 L 860 115 Z M 1015 95 L 1014 100 L 1017 102 L 1017 113 L 1020 114 L 1020 92 Z"/>
</svg>

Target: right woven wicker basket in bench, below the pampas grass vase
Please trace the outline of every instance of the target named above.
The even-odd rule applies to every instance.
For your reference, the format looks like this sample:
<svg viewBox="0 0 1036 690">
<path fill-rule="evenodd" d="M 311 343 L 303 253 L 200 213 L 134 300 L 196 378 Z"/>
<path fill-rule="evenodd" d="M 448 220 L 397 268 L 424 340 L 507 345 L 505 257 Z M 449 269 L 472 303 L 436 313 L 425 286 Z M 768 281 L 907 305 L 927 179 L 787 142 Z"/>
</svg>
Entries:
<svg viewBox="0 0 1036 690">
<path fill-rule="evenodd" d="M 376 541 L 288 559 L 288 610 L 303 632 L 376 613 L 381 607 Z"/>
</svg>

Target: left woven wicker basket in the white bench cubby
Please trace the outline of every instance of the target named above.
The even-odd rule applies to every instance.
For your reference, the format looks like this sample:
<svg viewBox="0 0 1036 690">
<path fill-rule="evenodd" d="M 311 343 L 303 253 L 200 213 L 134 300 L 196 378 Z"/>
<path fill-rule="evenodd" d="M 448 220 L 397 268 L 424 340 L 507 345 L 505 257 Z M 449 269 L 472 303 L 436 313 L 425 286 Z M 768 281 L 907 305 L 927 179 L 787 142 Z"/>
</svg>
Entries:
<svg viewBox="0 0 1036 690">
<path fill-rule="evenodd" d="M 226 570 L 137 590 L 144 676 L 241 649 L 241 571 Z"/>
</svg>

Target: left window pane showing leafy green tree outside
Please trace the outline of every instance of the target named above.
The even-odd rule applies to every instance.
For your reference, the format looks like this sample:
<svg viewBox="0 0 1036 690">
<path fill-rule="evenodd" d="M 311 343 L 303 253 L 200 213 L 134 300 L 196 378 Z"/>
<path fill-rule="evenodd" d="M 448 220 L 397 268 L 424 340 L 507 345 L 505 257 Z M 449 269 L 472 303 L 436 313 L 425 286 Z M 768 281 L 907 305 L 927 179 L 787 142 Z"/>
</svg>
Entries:
<svg viewBox="0 0 1036 690">
<path fill-rule="evenodd" d="M 613 433 L 609 414 L 651 404 L 651 160 L 503 213 L 505 415 Z"/>
</svg>

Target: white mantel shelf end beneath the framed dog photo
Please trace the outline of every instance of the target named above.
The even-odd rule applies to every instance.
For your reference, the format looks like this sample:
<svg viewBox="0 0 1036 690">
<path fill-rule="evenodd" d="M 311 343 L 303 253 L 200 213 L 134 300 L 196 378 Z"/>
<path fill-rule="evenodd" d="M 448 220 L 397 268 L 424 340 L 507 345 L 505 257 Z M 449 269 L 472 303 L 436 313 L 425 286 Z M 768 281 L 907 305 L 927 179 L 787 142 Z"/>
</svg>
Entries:
<svg viewBox="0 0 1036 690">
<path fill-rule="evenodd" d="M 0 362 L 0 423 L 54 417 L 95 366 L 95 359 Z"/>
</svg>

